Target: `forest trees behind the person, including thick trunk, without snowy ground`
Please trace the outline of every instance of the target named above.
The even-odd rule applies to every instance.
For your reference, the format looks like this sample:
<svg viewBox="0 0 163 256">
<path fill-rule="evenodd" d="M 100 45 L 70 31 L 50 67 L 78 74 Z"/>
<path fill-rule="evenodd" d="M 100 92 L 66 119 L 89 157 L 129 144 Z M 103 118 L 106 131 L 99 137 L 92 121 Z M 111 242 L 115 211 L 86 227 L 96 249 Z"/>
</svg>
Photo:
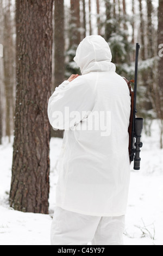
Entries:
<svg viewBox="0 0 163 256">
<path fill-rule="evenodd" d="M 117 73 L 128 80 L 140 43 L 138 115 L 148 136 L 158 120 L 163 148 L 163 0 L 0 2 L 0 144 L 15 138 L 10 206 L 48 213 L 49 141 L 63 132 L 49 126 L 47 102 L 62 81 L 80 74 L 73 57 L 86 35 L 105 38 Z"/>
</svg>

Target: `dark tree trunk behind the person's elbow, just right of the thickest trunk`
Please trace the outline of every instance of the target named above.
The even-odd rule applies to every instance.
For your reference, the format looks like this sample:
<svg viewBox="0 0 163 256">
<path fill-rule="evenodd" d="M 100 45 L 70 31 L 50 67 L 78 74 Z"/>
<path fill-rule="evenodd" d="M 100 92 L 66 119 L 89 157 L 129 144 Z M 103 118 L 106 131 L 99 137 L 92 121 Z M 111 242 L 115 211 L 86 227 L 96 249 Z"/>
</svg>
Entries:
<svg viewBox="0 0 163 256">
<path fill-rule="evenodd" d="M 54 1 L 54 89 L 65 80 L 65 14 L 64 0 Z M 63 131 L 54 131 L 52 137 L 63 137 Z"/>
</svg>

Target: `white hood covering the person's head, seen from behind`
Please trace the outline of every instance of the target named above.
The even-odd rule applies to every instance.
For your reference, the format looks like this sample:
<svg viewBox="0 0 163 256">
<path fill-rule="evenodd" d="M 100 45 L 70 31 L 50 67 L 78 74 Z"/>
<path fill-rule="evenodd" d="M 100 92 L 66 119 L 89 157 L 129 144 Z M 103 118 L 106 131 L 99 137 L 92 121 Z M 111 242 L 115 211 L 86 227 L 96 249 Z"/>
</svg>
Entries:
<svg viewBox="0 0 163 256">
<path fill-rule="evenodd" d="M 116 71 L 111 63 L 112 55 L 108 43 L 101 35 L 86 36 L 80 42 L 74 62 L 79 66 L 82 75 L 93 71 Z"/>
</svg>

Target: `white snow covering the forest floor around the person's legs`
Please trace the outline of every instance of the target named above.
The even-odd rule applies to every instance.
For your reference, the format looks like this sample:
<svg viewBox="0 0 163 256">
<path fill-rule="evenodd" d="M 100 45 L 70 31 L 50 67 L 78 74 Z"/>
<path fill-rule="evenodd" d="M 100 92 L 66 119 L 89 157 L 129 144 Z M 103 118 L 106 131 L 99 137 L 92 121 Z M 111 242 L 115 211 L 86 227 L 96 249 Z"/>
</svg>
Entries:
<svg viewBox="0 0 163 256">
<path fill-rule="evenodd" d="M 0 145 L 0 245 L 50 245 L 55 206 L 58 157 L 62 139 L 51 139 L 49 215 L 18 212 L 9 207 L 12 143 Z M 152 136 L 143 135 L 141 170 L 133 170 L 126 215 L 125 245 L 163 245 L 163 150 L 159 149 L 157 121 Z M 80 231 L 80 230 L 79 230 Z"/>
</svg>

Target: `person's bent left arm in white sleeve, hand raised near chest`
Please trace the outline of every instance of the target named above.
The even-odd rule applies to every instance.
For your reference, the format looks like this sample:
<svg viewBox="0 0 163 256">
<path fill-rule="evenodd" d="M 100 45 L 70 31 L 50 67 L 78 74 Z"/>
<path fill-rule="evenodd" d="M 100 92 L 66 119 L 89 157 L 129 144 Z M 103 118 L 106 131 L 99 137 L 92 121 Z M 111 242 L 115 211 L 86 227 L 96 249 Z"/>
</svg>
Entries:
<svg viewBox="0 0 163 256">
<path fill-rule="evenodd" d="M 48 102 L 48 118 L 54 129 L 68 130 L 93 109 L 94 95 L 82 76 L 70 77 L 55 88 Z"/>
</svg>

